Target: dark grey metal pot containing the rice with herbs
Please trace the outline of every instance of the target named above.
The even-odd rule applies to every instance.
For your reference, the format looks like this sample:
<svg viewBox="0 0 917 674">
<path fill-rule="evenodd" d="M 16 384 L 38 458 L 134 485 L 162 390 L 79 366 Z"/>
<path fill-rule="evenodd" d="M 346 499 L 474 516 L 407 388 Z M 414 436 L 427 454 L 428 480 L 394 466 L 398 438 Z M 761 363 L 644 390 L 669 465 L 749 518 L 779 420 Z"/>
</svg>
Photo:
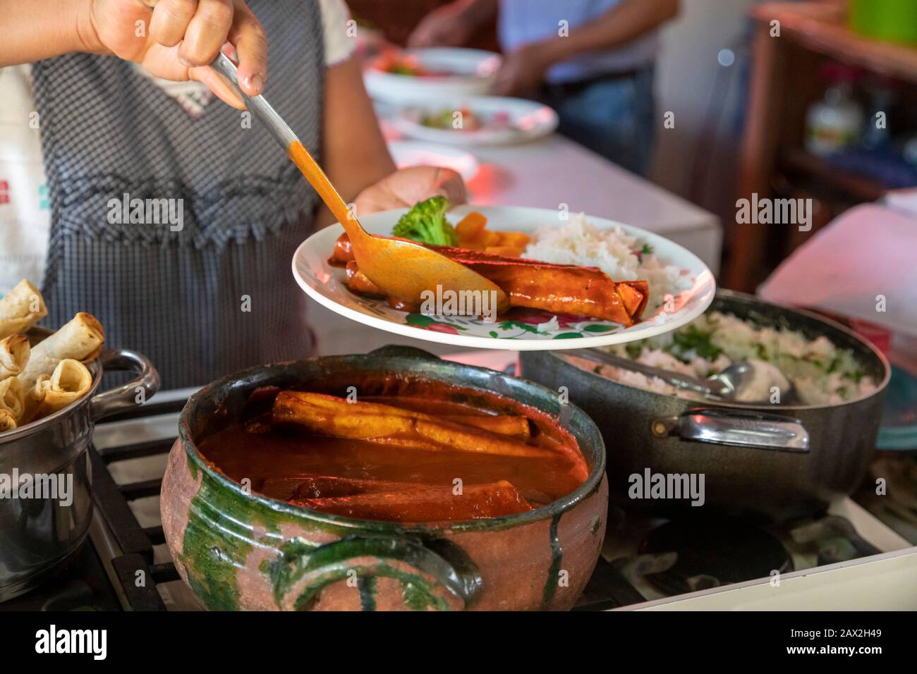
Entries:
<svg viewBox="0 0 917 674">
<path fill-rule="evenodd" d="M 689 506 L 687 500 L 629 498 L 631 476 L 646 469 L 703 475 L 706 504 L 776 517 L 812 513 L 853 492 L 874 451 L 888 360 L 844 326 L 751 295 L 718 291 L 711 311 L 828 337 L 853 349 L 878 388 L 834 405 L 697 403 L 605 379 L 550 351 L 522 353 L 522 376 L 554 390 L 567 387 L 570 402 L 599 425 L 610 498 L 627 507 L 668 512 Z"/>
</svg>

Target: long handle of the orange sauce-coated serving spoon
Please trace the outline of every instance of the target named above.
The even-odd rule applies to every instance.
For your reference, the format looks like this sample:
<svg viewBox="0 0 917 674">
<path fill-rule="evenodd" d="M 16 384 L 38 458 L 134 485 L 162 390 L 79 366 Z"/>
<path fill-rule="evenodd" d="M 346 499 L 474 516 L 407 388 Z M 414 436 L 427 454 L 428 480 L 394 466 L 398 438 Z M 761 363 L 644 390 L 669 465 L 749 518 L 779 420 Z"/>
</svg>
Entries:
<svg viewBox="0 0 917 674">
<path fill-rule="evenodd" d="M 236 86 L 238 70 L 232 59 L 220 51 L 211 66 L 216 69 L 216 72 L 222 73 L 229 83 L 238 90 L 238 86 Z M 322 171 L 322 167 L 309 154 L 309 150 L 305 149 L 303 142 L 293 133 L 290 125 L 283 121 L 283 117 L 274 110 L 273 105 L 268 103 L 268 100 L 261 94 L 249 96 L 249 94 L 240 90 L 239 93 L 242 94 L 242 98 L 249 105 L 252 112 L 255 113 L 255 116 L 268 125 L 271 136 L 290 155 L 290 159 L 303 172 L 305 179 L 309 181 L 315 192 L 322 198 L 331 213 L 337 217 L 337 221 L 347 230 L 348 235 L 351 238 L 359 236 L 359 223 L 350 212 L 347 203 L 337 193 L 335 186 L 328 180 L 325 171 Z"/>
</svg>

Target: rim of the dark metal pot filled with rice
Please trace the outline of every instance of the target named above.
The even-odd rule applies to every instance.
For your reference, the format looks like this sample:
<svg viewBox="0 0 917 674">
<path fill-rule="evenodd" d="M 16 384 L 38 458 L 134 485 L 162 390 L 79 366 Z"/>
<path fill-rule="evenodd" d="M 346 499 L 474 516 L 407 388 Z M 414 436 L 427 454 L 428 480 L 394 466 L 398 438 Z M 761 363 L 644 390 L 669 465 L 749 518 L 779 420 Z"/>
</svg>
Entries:
<svg viewBox="0 0 917 674">
<path fill-rule="evenodd" d="M 711 406 L 711 407 L 726 407 L 730 409 L 746 410 L 746 411 L 748 410 L 768 411 L 771 413 L 775 413 L 775 412 L 779 413 L 783 411 L 790 412 L 790 411 L 798 411 L 798 410 L 834 409 L 837 407 L 843 407 L 845 405 L 852 405 L 852 404 L 856 404 L 861 401 L 867 400 L 868 398 L 871 398 L 874 395 L 877 395 L 878 393 L 882 392 L 886 386 L 889 385 L 889 379 L 891 378 L 891 366 L 889 364 L 889 359 L 885 357 L 885 354 L 879 351 L 878 348 L 875 348 L 872 344 L 867 342 L 865 339 L 863 339 L 863 337 L 860 337 L 859 335 L 857 335 L 853 330 L 845 326 L 842 326 L 841 324 L 837 323 L 836 321 L 833 321 L 830 318 L 825 318 L 823 315 L 818 315 L 818 314 L 812 313 L 811 311 L 806 311 L 805 309 L 801 309 L 798 307 L 785 306 L 783 304 L 774 304 L 771 302 L 765 302 L 764 300 L 761 300 L 760 298 L 757 298 L 754 295 L 749 295 L 746 293 L 738 293 L 732 290 L 718 289 L 716 291 L 716 296 L 717 298 L 723 298 L 727 300 L 735 299 L 735 300 L 744 301 L 744 302 L 754 302 L 756 304 L 768 304 L 770 306 L 775 306 L 775 307 L 778 307 L 782 311 L 789 312 L 790 314 L 799 314 L 799 315 L 806 316 L 807 318 L 810 318 L 814 321 L 818 321 L 820 323 L 824 323 L 825 325 L 833 327 L 835 330 L 845 333 L 845 335 L 847 335 L 848 337 L 852 337 L 857 342 L 859 342 L 863 346 L 863 348 L 866 348 L 867 350 L 872 352 L 876 356 L 876 358 L 878 358 L 878 360 L 882 363 L 882 368 L 884 370 L 884 376 L 882 377 L 882 381 L 877 383 L 875 391 L 865 393 L 864 395 L 861 395 L 858 398 L 854 398 L 852 400 L 845 400 L 843 403 L 807 404 L 807 405 L 803 405 L 803 404 L 798 404 L 798 405 L 784 405 L 784 404 L 770 405 L 770 404 L 767 404 L 767 405 L 763 405 L 763 404 L 751 404 L 751 403 L 727 403 L 727 402 L 718 401 L 718 400 L 692 400 L 691 398 L 679 398 L 679 396 L 673 396 L 667 393 L 647 391 L 646 389 L 641 389 L 638 386 L 631 386 L 630 384 L 625 384 L 622 381 L 616 381 L 613 379 L 609 379 L 607 377 L 602 377 L 602 375 L 596 374 L 595 372 L 588 370 L 586 368 L 582 368 L 579 365 L 574 365 L 573 363 L 570 363 L 568 360 L 564 360 L 563 362 L 565 362 L 570 367 L 574 367 L 577 370 L 586 372 L 587 374 L 591 375 L 591 377 L 594 377 L 598 381 L 606 381 L 609 384 L 616 384 L 618 386 L 624 386 L 625 388 L 633 389 L 635 391 L 648 393 L 650 395 L 657 395 L 659 396 L 659 398 L 663 398 L 663 399 L 677 398 L 679 400 L 683 400 L 685 403 L 690 403 L 690 404 L 692 403 L 692 404 L 699 404 L 699 405 L 705 405 L 705 406 Z M 551 351 L 549 355 L 550 357 L 556 358 L 556 359 L 560 359 L 561 356 L 563 355 L 575 356 L 576 349 L 569 349 L 569 350 L 564 350 L 564 351 Z"/>
</svg>

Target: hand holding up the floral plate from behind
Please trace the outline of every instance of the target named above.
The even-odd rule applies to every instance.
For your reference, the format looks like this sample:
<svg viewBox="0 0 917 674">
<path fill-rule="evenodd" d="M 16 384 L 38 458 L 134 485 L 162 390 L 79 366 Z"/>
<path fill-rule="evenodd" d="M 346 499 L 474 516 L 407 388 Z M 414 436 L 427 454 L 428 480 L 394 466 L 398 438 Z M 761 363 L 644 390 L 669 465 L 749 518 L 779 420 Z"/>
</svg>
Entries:
<svg viewBox="0 0 917 674">
<path fill-rule="evenodd" d="M 357 196 L 357 217 L 392 208 L 405 208 L 441 194 L 452 204 L 468 201 L 465 182 L 452 169 L 413 166 L 394 171 Z"/>
</svg>

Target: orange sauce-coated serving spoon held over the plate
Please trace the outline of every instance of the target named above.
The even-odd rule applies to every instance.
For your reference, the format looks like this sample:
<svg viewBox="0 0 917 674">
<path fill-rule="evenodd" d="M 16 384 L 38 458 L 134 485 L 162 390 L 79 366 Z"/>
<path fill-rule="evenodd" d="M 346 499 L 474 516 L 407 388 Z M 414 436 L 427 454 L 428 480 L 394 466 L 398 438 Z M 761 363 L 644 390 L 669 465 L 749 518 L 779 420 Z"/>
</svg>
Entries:
<svg viewBox="0 0 917 674">
<path fill-rule="evenodd" d="M 238 72 L 232 59 L 221 51 L 211 65 L 238 90 Z M 325 171 L 264 96 L 240 93 L 249 108 L 268 126 L 271 135 L 289 153 L 290 159 L 337 217 L 337 222 L 344 227 L 359 270 L 384 293 L 406 303 L 422 304 L 423 293 L 436 292 L 436 287 L 441 286 L 443 291 L 489 293 L 488 297 L 496 299 L 498 313 L 509 307 L 506 293 L 476 271 L 418 243 L 376 237 L 367 232 L 328 180 Z"/>
</svg>

